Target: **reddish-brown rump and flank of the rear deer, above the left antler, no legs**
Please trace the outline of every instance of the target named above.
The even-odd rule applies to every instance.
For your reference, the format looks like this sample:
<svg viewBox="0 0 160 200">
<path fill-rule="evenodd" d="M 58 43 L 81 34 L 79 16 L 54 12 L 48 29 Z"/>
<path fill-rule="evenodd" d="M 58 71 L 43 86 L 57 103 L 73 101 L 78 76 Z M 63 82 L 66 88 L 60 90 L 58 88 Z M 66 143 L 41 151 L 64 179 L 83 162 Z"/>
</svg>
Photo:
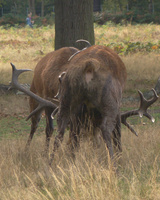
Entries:
<svg viewBox="0 0 160 200">
<path fill-rule="evenodd" d="M 68 59 L 77 51 L 64 47 L 43 57 L 35 67 L 31 91 L 44 98 L 53 98 L 58 91 L 58 76 L 67 70 Z"/>
</svg>

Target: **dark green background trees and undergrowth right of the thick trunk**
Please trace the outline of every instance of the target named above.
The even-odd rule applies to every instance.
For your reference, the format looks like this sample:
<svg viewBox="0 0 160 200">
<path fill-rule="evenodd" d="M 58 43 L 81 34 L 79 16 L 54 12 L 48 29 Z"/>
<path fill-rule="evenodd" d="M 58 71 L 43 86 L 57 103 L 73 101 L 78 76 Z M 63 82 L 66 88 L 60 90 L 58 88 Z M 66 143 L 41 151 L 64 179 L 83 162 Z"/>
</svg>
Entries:
<svg viewBox="0 0 160 200">
<path fill-rule="evenodd" d="M 155 0 L 103 0 L 102 13 L 95 13 L 94 20 L 99 24 L 113 21 L 125 23 L 160 23 L 160 1 Z"/>
</svg>

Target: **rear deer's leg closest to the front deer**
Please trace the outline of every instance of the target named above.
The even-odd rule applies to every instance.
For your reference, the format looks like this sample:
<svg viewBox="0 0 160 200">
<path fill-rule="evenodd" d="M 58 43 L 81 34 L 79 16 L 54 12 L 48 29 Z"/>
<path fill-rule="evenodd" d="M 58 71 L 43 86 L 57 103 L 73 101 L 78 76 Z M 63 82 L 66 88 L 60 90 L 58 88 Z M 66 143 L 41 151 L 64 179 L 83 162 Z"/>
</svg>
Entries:
<svg viewBox="0 0 160 200">
<path fill-rule="evenodd" d="M 45 147 L 45 152 L 49 152 L 49 143 L 51 136 L 53 134 L 53 119 L 51 118 L 53 110 L 52 109 L 45 109 L 45 115 L 46 115 L 46 147 Z"/>
</svg>

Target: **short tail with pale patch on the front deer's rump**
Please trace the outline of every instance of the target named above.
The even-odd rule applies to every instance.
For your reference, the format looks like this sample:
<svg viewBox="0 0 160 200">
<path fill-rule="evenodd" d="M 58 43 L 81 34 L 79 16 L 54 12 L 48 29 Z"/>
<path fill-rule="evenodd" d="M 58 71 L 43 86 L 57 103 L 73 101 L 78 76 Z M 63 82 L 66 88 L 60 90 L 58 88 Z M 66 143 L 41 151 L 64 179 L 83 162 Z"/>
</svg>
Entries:
<svg viewBox="0 0 160 200">
<path fill-rule="evenodd" d="M 94 78 L 94 74 L 96 71 L 98 71 L 99 69 L 99 63 L 96 61 L 87 61 L 85 64 L 85 80 L 87 82 L 87 84 L 93 80 Z"/>
</svg>

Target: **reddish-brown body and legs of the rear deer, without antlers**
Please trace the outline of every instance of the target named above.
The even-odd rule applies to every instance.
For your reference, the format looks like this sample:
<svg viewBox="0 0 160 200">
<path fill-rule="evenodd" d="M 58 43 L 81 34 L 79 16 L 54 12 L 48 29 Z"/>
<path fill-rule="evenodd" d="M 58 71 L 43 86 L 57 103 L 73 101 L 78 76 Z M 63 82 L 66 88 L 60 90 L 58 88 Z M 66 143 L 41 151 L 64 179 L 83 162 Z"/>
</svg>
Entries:
<svg viewBox="0 0 160 200">
<path fill-rule="evenodd" d="M 51 100 L 58 92 L 58 76 L 67 70 L 68 59 L 77 52 L 78 49 L 73 47 L 64 47 L 57 51 L 48 53 L 43 57 L 35 67 L 34 77 L 30 90 L 35 94 Z M 30 98 L 30 111 L 32 112 L 38 106 L 38 103 Z M 52 109 L 45 109 L 46 114 L 46 151 L 48 151 L 50 137 L 53 133 L 53 124 L 51 119 Z M 41 112 L 36 113 L 31 118 L 31 132 L 27 142 L 27 148 L 37 129 Z"/>
</svg>

